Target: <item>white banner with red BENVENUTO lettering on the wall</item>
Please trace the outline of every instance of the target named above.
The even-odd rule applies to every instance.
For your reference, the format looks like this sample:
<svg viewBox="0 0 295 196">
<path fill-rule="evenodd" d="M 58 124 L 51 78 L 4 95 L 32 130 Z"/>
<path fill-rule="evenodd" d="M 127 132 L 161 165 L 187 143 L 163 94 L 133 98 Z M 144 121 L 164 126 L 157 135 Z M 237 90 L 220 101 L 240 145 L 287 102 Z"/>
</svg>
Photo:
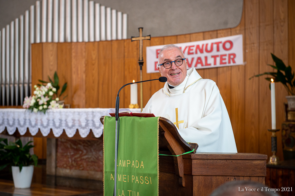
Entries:
<svg viewBox="0 0 295 196">
<path fill-rule="evenodd" d="M 242 34 L 175 45 L 183 51 L 187 60 L 187 69 L 191 67 L 204 69 L 243 64 Z M 158 56 L 163 46 L 165 45 L 146 48 L 147 73 L 158 72 Z"/>
</svg>

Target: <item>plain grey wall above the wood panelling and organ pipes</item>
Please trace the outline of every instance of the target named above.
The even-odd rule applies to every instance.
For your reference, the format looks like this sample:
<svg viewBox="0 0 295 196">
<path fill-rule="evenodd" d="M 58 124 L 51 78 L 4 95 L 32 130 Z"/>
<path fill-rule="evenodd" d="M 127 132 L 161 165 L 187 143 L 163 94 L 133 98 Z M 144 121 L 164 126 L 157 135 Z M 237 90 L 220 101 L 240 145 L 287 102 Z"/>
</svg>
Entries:
<svg viewBox="0 0 295 196">
<path fill-rule="evenodd" d="M 243 0 L 94 0 L 128 14 L 128 35 L 167 36 L 237 26 Z M 0 0 L 0 29 L 36 0 Z"/>
</svg>

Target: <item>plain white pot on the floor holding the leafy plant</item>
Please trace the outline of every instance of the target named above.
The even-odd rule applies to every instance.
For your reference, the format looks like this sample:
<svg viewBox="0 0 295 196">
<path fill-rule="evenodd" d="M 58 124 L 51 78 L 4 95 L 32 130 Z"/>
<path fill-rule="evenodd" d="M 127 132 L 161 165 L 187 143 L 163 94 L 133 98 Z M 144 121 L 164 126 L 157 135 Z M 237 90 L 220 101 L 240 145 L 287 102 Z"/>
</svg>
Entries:
<svg viewBox="0 0 295 196">
<path fill-rule="evenodd" d="M 11 166 L 11 169 L 15 188 L 26 189 L 31 187 L 34 165 L 23 166 L 21 172 L 19 172 L 18 166 Z"/>
</svg>

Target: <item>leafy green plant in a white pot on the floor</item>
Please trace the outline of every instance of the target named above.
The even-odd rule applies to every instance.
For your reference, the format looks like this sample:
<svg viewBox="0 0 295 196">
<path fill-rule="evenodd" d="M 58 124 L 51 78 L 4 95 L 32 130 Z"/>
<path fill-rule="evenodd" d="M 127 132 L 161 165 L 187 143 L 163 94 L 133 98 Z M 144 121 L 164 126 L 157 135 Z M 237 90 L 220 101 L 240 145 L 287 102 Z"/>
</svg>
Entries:
<svg viewBox="0 0 295 196">
<path fill-rule="evenodd" d="M 0 171 L 7 166 L 12 168 L 12 178 L 15 188 L 30 188 L 34 165 L 37 166 L 37 155 L 30 154 L 30 145 L 33 141 L 22 146 L 22 141 L 7 142 L 7 139 L 0 138 Z"/>
</svg>

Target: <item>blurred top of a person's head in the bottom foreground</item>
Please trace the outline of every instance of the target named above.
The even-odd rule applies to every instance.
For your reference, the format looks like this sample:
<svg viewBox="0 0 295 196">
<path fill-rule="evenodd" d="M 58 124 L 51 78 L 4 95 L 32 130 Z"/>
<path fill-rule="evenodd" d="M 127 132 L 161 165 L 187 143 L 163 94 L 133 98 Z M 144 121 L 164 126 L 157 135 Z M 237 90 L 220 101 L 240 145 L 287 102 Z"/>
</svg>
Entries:
<svg viewBox="0 0 295 196">
<path fill-rule="evenodd" d="M 237 180 L 226 182 L 215 189 L 210 196 L 278 196 L 280 188 L 273 189 L 258 182 Z"/>
</svg>

